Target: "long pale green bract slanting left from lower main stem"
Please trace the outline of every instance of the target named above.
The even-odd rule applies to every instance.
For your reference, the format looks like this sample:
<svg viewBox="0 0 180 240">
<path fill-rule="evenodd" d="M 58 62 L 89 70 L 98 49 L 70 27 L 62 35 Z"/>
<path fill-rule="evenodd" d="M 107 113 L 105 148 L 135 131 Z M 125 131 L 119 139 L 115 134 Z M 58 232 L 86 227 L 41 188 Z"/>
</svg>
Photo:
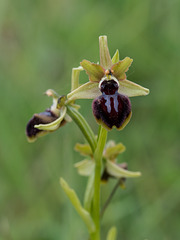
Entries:
<svg viewBox="0 0 180 240">
<path fill-rule="evenodd" d="M 82 220 L 86 224 L 89 233 L 90 234 L 93 233 L 95 231 L 95 224 L 94 224 L 89 212 L 86 211 L 82 207 L 82 205 L 79 201 L 79 198 L 76 195 L 75 191 L 72 188 L 69 187 L 69 185 L 67 184 L 67 182 L 63 178 L 60 178 L 60 184 L 61 184 L 61 187 L 63 188 L 64 192 L 68 196 L 69 200 L 71 201 L 72 205 L 76 209 L 77 213 L 81 216 Z"/>
</svg>

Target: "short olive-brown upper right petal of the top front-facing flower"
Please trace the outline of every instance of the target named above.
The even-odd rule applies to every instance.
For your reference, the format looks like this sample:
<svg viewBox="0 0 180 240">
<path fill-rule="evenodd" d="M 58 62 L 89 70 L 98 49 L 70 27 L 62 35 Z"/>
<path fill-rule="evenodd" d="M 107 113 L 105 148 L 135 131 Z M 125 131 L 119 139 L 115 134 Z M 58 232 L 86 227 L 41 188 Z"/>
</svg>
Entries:
<svg viewBox="0 0 180 240">
<path fill-rule="evenodd" d="M 118 81 L 126 79 L 125 72 L 128 71 L 132 61 L 133 59 L 125 57 L 122 61 L 119 61 L 112 66 L 111 70 L 114 71 L 113 75 L 118 79 Z"/>
</svg>

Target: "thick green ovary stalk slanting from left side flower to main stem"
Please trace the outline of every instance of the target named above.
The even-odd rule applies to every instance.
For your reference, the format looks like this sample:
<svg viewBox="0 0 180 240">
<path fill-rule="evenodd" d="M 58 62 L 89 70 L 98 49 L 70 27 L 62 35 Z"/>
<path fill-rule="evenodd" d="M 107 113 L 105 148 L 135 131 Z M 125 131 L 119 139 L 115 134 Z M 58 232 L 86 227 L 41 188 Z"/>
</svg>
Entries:
<svg viewBox="0 0 180 240">
<path fill-rule="evenodd" d="M 89 126 L 89 124 L 86 122 L 85 118 L 73 107 L 71 106 L 66 106 L 67 107 L 67 113 L 68 115 L 74 120 L 74 122 L 78 125 L 80 128 L 81 132 L 83 133 L 84 137 L 88 141 L 92 152 L 94 153 L 96 149 L 96 138 L 95 135 Z"/>
</svg>

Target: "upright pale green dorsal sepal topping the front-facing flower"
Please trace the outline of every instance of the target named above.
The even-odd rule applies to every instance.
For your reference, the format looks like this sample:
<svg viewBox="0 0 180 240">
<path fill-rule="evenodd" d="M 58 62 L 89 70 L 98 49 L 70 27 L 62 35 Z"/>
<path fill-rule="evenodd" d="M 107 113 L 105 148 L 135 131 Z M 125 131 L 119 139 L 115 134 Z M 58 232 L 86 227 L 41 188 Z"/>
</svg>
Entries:
<svg viewBox="0 0 180 240">
<path fill-rule="evenodd" d="M 107 36 L 99 37 L 100 65 L 104 69 L 110 69 L 112 66 L 111 56 L 109 54 Z"/>
</svg>

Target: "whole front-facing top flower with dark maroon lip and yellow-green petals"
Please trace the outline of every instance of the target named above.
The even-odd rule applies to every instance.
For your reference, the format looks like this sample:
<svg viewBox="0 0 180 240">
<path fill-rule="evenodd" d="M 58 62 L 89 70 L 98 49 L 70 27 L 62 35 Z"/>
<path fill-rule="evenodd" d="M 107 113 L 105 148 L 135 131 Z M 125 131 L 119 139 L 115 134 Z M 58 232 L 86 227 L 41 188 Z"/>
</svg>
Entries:
<svg viewBox="0 0 180 240">
<path fill-rule="evenodd" d="M 92 109 L 97 122 L 106 129 L 123 129 L 131 117 L 131 103 L 128 97 L 147 95 L 149 90 L 126 79 L 131 66 L 129 57 L 119 60 L 118 50 L 111 59 L 107 37 L 100 37 L 100 64 L 83 60 L 81 66 L 89 82 L 68 94 L 74 99 L 95 99 Z"/>
</svg>

